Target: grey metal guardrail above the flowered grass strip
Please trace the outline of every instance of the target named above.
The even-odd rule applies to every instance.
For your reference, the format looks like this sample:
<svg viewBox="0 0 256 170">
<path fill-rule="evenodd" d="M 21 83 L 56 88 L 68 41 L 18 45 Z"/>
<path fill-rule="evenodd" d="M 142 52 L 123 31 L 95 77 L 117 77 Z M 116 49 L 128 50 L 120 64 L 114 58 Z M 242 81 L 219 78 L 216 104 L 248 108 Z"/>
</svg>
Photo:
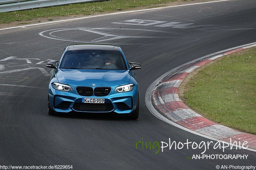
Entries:
<svg viewBox="0 0 256 170">
<path fill-rule="evenodd" d="M 59 6 L 65 4 L 77 4 L 84 2 L 104 1 L 104 0 L 2 0 L 0 1 L 0 12 L 10 12 L 28 10 L 34 8 Z M 9 4 L 12 3 L 12 4 Z"/>
</svg>

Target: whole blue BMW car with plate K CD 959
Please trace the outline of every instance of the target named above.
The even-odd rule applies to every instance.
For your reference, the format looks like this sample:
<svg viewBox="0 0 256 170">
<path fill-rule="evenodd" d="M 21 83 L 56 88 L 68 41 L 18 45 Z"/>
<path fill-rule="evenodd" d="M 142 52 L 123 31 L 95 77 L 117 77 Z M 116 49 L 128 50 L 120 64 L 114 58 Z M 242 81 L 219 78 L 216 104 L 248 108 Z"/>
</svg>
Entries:
<svg viewBox="0 0 256 170">
<path fill-rule="evenodd" d="M 67 46 L 60 61 L 49 61 L 48 113 L 91 112 L 139 117 L 138 83 L 120 46 L 74 44 Z"/>
</svg>

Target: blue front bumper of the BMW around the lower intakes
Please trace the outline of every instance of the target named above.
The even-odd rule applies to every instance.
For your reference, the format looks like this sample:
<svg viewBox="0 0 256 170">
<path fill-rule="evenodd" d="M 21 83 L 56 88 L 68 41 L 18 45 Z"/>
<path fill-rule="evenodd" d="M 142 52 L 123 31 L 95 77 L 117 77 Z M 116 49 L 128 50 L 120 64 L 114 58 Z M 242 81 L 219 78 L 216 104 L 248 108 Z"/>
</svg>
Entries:
<svg viewBox="0 0 256 170">
<path fill-rule="evenodd" d="M 89 112 L 89 113 L 107 113 L 115 112 L 118 114 L 129 114 L 136 109 L 138 86 L 134 86 L 132 91 L 129 92 L 114 92 L 114 88 L 111 89 L 108 96 L 80 96 L 74 91 L 60 91 L 53 88 L 52 84 L 49 84 L 49 105 L 55 112 L 69 113 L 76 112 Z M 82 98 L 94 98 L 105 99 L 105 103 L 83 103 Z"/>
</svg>

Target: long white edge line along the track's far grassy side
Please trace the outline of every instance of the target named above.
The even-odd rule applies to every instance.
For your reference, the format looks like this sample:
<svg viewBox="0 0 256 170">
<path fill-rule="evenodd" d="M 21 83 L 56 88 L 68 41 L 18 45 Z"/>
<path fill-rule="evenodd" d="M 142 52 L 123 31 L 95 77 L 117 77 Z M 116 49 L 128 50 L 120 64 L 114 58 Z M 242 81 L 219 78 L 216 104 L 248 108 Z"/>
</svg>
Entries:
<svg viewBox="0 0 256 170">
<path fill-rule="evenodd" d="M 185 4 L 185 5 L 175 5 L 175 6 L 158 7 L 158 8 L 144 9 L 144 10 L 134 10 L 134 11 L 115 12 L 115 13 L 102 14 L 102 15 L 92 15 L 92 16 L 81 17 L 81 18 L 64 19 L 64 20 L 51 21 L 51 22 L 45 22 L 45 23 L 39 23 L 39 24 L 31 24 L 31 25 L 23 25 L 23 26 L 15 26 L 15 27 L 9 27 L 9 28 L 2 28 L 2 29 L 0 29 L 0 31 L 1 31 L 1 30 L 13 29 L 13 28 L 24 28 L 24 27 L 35 26 L 35 25 L 44 25 L 44 24 L 51 24 L 51 23 L 58 23 L 58 22 L 65 22 L 65 21 L 74 21 L 74 20 L 86 19 L 86 18 L 102 17 L 102 16 L 108 16 L 108 15 L 117 15 L 117 14 L 125 14 L 125 13 L 132 13 L 132 12 L 142 12 L 142 11 L 152 11 L 152 10 L 159 10 L 159 9 L 165 9 L 165 8 L 181 7 L 181 6 L 188 6 L 188 5 L 198 5 L 198 4 L 208 4 L 208 3 L 225 2 L 225 1 L 232 1 L 232 0 L 221 0 L 221 1 L 212 1 L 212 2 L 202 2 L 202 3 L 195 3 L 195 4 Z"/>
</svg>

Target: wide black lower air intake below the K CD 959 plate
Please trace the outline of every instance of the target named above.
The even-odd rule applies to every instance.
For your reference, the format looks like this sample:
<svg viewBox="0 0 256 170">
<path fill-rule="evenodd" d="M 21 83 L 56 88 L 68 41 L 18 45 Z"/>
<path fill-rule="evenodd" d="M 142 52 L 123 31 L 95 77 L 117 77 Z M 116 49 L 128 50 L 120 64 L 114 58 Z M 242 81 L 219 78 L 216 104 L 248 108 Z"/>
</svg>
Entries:
<svg viewBox="0 0 256 170">
<path fill-rule="evenodd" d="M 84 112 L 106 112 L 114 109 L 112 103 L 75 103 L 73 109 Z"/>
</svg>

